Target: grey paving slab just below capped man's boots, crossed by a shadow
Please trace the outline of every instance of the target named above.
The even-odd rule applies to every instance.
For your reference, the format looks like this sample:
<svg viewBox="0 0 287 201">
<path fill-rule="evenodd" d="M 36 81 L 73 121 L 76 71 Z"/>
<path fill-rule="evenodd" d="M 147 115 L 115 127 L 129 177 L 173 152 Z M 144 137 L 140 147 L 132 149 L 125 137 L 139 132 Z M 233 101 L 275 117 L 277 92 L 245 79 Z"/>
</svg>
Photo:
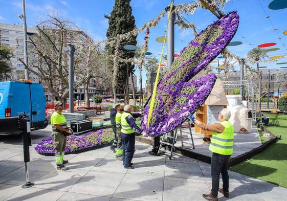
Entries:
<svg viewBox="0 0 287 201">
<path fill-rule="evenodd" d="M 40 181 L 35 181 L 35 187 L 68 191 L 71 186 L 76 184 L 89 170 L 75 169 L 61 171 L 56 170 L 41 177 Z"/>
</svg>

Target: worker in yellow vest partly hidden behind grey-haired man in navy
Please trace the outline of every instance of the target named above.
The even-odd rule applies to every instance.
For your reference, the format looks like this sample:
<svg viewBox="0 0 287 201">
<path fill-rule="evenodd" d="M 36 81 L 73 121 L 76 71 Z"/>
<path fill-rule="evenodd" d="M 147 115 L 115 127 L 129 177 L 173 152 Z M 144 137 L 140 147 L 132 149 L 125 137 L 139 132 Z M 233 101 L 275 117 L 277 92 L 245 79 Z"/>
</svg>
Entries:
<svg viewBox="0 0 287 201">
<path fill-rule="evenodd" d="M 122 114 L 124 111 L 124 108 L 120 105 L 117 104 L 116 105 L 116 110 L 117 110 L 117 114 L 116 114 L 116 128 L 117 128 L 117 138 L 118 138 L 118 143 L 117 143 L 117 148 L 116 150 L 116 158 L 120 161 L 123 160 L 122 156 L 123 156 L 123 149 L 122 149 L 122 139 L 121 139 L 121 129 L 122 129 L 122 123 L 121 123 L 121 119 L 122 119 Z"/>
</svg>

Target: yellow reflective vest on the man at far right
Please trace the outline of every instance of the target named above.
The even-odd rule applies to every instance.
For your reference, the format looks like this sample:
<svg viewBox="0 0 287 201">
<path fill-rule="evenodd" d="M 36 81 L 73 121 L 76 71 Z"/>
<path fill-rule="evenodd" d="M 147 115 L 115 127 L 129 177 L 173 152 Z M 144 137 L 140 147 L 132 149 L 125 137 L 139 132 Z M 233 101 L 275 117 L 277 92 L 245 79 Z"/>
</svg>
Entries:
<svg viewBox="0 0 287 201">
<path fill-rule="evenodd" d="M 209 150 L 223 155 L 232 155 L 234 127 L 229 121 L 220 122 L 225 129 L 222 133 L 212 132 Z"/>
</svg>

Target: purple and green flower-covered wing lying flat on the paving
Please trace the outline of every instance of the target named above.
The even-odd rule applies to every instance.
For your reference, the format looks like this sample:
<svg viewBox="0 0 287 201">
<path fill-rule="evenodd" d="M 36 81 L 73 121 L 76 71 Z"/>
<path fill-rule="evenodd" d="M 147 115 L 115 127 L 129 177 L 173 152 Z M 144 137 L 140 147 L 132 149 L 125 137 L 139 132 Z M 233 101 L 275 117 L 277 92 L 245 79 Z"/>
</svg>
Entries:
<svg viewBox="0 0 287 201">
<path fill-rule="evenodd" d="M 112 129 L 91 131 L 86 133 L 83 137 L 77 137 L 75 135 L 68 136 L 65 154 L 92 150 L 100 145 L 112 143 L 114 138 L 115 134 Z M 42 155 L 55 155 L 53 143 L 53 138 L 50 136 L 38 143 L 35 150 Z"/>
</svg>

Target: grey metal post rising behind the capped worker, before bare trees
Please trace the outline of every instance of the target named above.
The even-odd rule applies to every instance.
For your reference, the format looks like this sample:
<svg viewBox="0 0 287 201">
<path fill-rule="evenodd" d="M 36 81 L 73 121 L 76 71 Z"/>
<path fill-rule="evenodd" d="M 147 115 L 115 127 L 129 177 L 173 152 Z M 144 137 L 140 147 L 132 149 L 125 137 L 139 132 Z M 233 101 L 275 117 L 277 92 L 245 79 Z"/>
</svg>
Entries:
<svg viewBox="0 0 287 201">
<path fill-rule="evenodd" d="M 69 44 L 69 111 L 70 113 L 74 113 L 74 52 L 75 46 L 73 44 Z"/>
</svg>

